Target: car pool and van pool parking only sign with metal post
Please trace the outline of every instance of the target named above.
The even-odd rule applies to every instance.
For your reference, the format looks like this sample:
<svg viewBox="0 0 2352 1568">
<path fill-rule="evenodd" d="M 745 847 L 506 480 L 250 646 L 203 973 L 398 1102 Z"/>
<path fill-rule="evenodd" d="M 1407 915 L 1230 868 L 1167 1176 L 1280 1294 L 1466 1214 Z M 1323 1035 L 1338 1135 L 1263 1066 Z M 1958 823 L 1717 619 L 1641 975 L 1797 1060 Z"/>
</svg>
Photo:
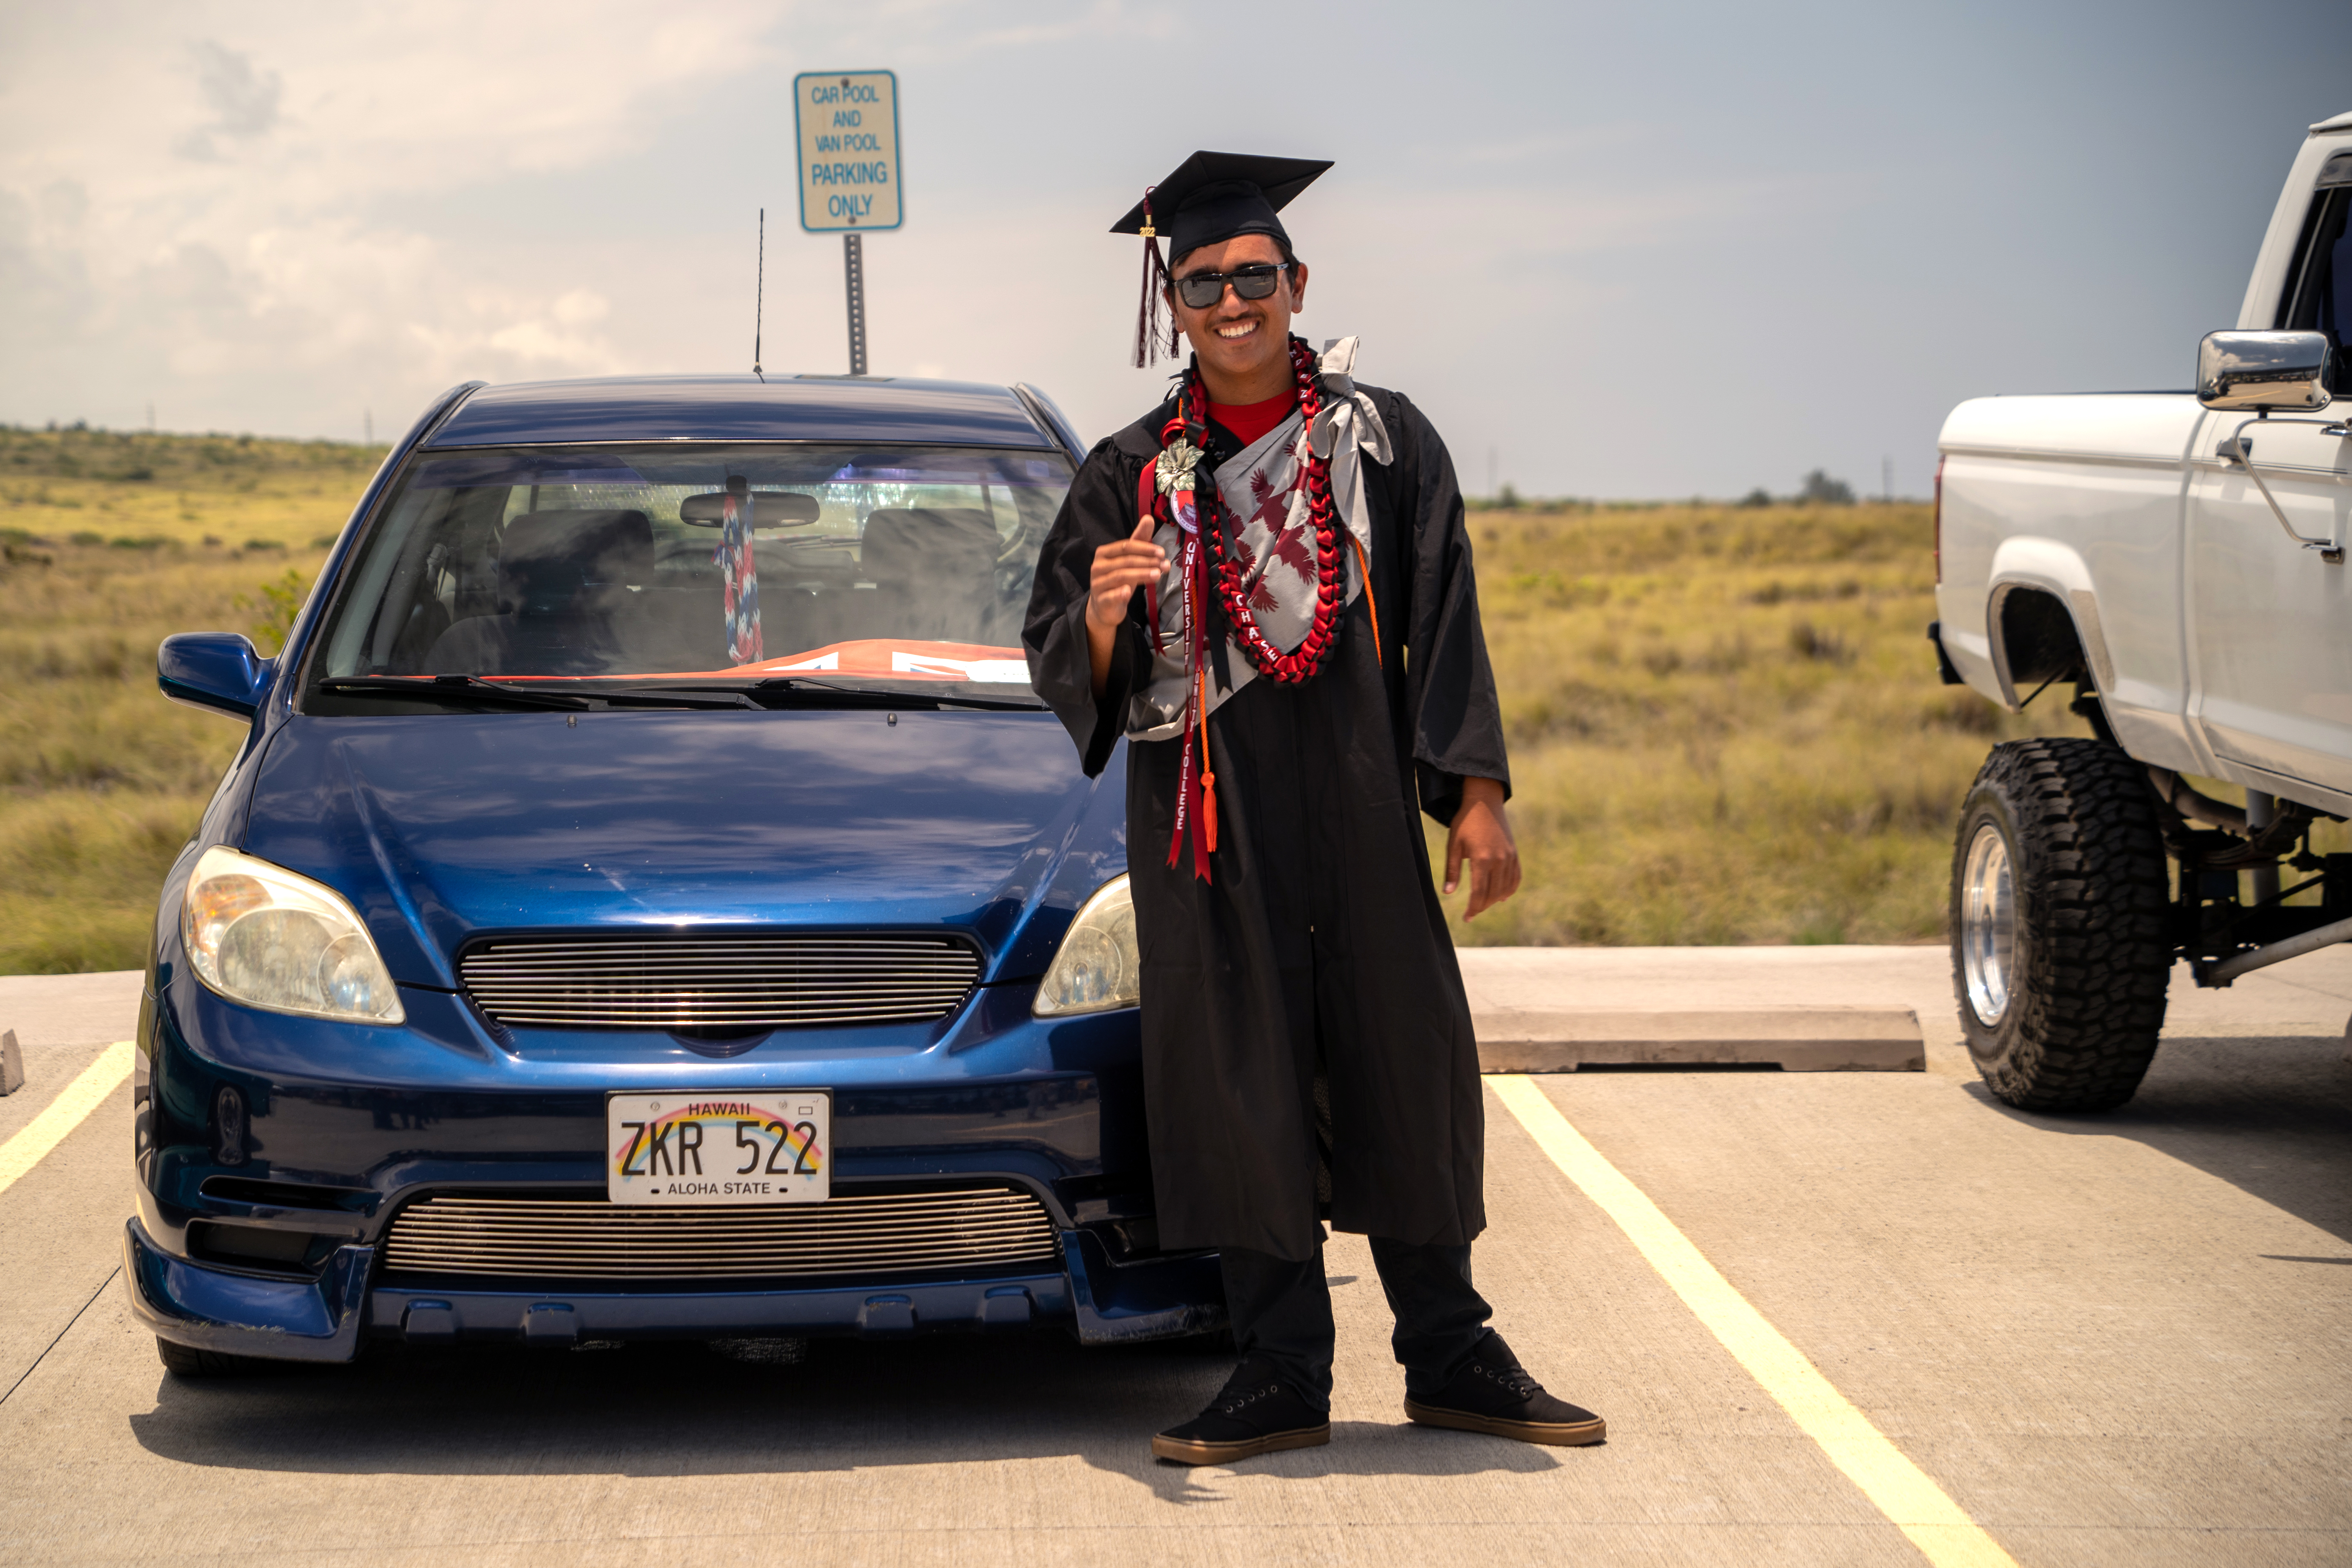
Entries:
<svg viewBox="0 0 2352 1568">
<path fill-rule="evenodd" d="M 898 179 L 898 75 L 802 71 L 793 78 L 800 141 L 800 226 L 842 237 L 849 292 L 849 374 L 866 374 L 866 249 L 870 228 L 906 221 Z"/>
</svg>

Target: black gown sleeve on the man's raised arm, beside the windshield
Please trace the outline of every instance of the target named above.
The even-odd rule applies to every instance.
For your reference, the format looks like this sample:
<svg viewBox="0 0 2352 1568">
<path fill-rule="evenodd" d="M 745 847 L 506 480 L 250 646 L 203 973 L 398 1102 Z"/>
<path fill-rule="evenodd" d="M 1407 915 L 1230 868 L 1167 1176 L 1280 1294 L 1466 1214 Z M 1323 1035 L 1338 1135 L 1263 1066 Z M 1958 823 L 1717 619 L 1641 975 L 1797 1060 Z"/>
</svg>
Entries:
<svg viewBox="0 0 2352 1568">
<path fill-rule="evenodd" d="M 1094 574 L 1094 552 L 1134 531 L 1136 517 L 1129 512 L 1136 510 L 1141 477 L 1143 461 L 1122 451 L 1117 437 L 1103 440 L 1087 454 L 1037 552 L 1037 578 L 1021 628 L 1030 684 L 1070 731 L 1087 778 L 1110 764 L 1110 750 L 1124 731 L 1127 703 L 1150 672 L 1141 592 L 1127 604 L 1127 623 L 1110 649 L 1110 682 L 1101 698 L 1094 696 L 1094 670 L 1087 658 L 1087 583 Z"/>
</svg>

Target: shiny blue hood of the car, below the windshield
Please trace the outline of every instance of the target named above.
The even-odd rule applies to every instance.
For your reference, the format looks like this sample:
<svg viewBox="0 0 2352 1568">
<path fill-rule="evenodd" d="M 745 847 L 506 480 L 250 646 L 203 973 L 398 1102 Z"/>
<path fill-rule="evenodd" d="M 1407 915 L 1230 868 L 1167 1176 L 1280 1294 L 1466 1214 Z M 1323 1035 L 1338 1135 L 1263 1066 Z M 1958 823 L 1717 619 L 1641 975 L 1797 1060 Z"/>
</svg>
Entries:
<svg viewBox="0 0 2352 1568">
<path fill-rule="evenodd" d="M 946 924 L 1018 978 L 1068 919 L 1030 914 L 1124 870 L 1117 795 L 1044 712 L 294 715 L 242 846 L 350 898 L 405 985 L 579 926 Z"/>
</svg>

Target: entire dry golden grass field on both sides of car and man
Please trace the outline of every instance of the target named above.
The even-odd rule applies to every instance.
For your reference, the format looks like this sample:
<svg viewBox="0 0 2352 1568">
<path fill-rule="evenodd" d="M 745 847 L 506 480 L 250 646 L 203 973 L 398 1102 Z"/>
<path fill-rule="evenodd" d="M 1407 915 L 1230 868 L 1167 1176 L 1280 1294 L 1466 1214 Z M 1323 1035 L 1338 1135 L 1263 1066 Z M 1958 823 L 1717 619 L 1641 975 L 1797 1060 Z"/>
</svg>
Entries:
<svg viewBox="0 0 2352 1568">
<path fill-rule="evenodd" d="M 155 644 L 282 618 L 379 458 L 0 430 L 0 973 L 143 959 L 242 736 L 155 693 Z M 1517 508 L 1472 531 L 1529 877 L 1463 943 L 1933 940 L 1985 750 L 2084 733 L 2063 693 L 2009 717 L 1936 684 L 1924 505 Z"/>
</svg>

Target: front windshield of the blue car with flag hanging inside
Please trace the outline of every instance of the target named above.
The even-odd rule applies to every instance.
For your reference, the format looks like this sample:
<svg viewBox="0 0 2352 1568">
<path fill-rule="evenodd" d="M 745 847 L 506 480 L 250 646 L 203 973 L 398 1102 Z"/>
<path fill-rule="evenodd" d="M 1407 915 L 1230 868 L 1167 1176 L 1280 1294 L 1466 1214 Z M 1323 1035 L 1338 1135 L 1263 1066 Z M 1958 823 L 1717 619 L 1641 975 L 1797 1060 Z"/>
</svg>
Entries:
<svg viewBox="0 0 2352 1568">
<path fill-rule="evenodd" d="M 419 451 L 343 567 L 310 693 L 482 677 L 1028 698 L 1021 614 L 1068 487 L 1061 454 L 976 447 Z"/>
</svg>

